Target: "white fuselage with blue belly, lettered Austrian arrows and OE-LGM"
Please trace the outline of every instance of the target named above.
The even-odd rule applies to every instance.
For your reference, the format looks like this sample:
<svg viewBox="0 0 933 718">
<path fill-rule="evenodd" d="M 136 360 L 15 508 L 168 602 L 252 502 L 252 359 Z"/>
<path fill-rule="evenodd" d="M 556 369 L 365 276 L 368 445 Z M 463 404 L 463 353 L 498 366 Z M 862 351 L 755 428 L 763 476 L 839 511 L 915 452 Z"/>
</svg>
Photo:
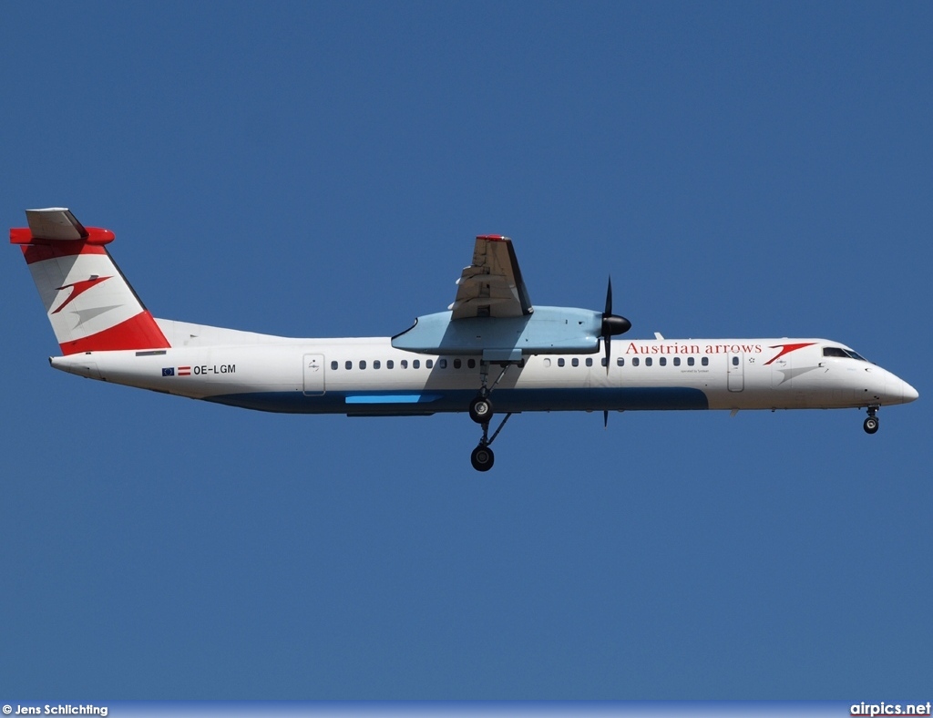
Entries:
<svg viewBox="0 0 933 718">
<path fill-rule="evenodd" d="M 480 360 L 394 349 L 389 338 L 281 338 L 157 320 L 171 348 L 52 358 L 81 376 L 230 406 L 294 413 L 466 411 Z M 851 355 L 849 355 L 851 354 Z M 489 381 L 502 369 L 489 368 Z M 497 412 L 880 407 L 907 382 L 820 338 L 617 339 L 602 353 L 526 357 Z"/>
</svg>

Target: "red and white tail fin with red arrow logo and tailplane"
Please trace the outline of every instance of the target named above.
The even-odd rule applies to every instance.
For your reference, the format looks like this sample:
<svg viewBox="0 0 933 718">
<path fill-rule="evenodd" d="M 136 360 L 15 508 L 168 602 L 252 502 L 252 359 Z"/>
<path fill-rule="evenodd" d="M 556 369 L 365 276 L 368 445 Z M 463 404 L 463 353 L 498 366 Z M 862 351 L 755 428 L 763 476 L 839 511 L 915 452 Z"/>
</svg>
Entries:
<svg viewBox="0 0 933 718">
<path fill-rule="evenodd" d="M 113 232 L 62 207 L 26 210 L 26 221 L 9 241 L 21 245 L 63 354 L 170 347 L 104 246 Z"/>
</svg>

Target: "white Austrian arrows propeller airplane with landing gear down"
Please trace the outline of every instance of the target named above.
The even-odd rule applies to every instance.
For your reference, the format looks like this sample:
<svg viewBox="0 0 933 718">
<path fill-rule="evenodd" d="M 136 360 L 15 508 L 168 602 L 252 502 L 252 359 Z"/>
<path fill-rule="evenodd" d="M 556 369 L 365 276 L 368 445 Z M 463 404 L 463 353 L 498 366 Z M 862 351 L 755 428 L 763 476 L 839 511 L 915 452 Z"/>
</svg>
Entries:
<svg viewBox="0 0 933 718">
<path fill-rule="evenodd" d="M 513 414 L 863 408 L 918 396 L 906 381 L 822 338 L 617 339 L 612 311 L 533 305 L 511 240 L 480 235 L 447 311 L 393 337 L 285 338 L 158 319 L 107 251 L 112 231 L 62 207 L 26 210 L 11 228 L 62 350 L 56 369 L 154 392 L 273 412 L 426 416 L 468 412 L 480 424 L 470 461 Z M 602 352 L 600 349 L 602 348 Z M 503 418 L 490 435 L 494 412 Z"/>
</svg>

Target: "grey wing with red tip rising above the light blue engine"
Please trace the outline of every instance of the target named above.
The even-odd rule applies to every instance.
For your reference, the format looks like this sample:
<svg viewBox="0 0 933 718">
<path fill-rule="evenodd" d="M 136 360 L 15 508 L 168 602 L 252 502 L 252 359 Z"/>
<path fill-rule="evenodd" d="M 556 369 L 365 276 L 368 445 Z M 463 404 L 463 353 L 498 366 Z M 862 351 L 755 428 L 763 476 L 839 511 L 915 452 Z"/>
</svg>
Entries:
<svg viewBox="0 0 933 718">
<path fill-rule="evenodd" d="M 508 237 L 476 238 L 473 264 L 457 280 L 457 296 L 448 309 L 452 319 L 520 317 L 535 311 Z"/>
</svg>

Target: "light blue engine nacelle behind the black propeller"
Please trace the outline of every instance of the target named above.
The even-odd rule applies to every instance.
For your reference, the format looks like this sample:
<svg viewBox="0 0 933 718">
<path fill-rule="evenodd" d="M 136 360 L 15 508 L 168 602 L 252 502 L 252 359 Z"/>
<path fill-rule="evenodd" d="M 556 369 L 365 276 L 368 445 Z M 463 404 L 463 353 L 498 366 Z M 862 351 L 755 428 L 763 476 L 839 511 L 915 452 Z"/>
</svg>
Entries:
<svg viewBox="0 0 933 718">
<path fill-rule="evenodd" d="M 452 319 L 450 311 L 418 317 L 392 338 L 392 346 L 427 354 L 474 354 L 489 361 L 522 355 L 593 353 L 599 350 L 603 315 L 570 307 L 536 307 L 521 317 Z"/>
</svg>

